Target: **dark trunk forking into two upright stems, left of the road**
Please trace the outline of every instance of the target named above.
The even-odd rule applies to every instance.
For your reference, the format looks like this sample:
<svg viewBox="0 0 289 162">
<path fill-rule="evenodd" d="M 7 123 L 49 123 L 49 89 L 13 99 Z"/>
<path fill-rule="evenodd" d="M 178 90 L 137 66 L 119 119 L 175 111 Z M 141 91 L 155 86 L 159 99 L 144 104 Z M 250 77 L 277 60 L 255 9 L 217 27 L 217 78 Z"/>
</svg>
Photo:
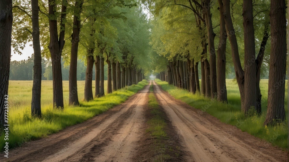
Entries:
<svg viewBox="0 0 289 162">
<path fill-rule="evenodd" d="M 62 87 L 62 72 L 61 72 L 61 55 L 64 47 L 64 34 L 65 34 L 65 21 L 66 21 L 66 6 L 67 0 L 62 0 L 60 28 L 58 38 L 58 22 L 57 18 L 51 17 L 49 19 L 49 51 L 51 54 L 52 62 L 52 80 L 53 80 L 53 107 L 63 108 L 63 87 Z M 56 16 L 56 4 L 55 1 L 48 0 L 49 15 Z"/>
</svg>

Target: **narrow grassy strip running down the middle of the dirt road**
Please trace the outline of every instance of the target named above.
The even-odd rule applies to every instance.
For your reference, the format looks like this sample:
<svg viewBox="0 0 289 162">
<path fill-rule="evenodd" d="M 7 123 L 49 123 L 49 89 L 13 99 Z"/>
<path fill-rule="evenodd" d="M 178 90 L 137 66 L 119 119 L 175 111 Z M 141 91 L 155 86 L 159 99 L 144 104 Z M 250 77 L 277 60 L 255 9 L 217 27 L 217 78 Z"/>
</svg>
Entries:
<svg viewBox="0 0 289 162">
<path fill-rule="evenodd" d="M 167 123 L 165 120 L 165 113 L 160 109 L 158 101 L 153 93 L 153 85 L 150 87 L 149 103 L 150 119 L 147 121 L 148 132 L 153 138 L 153 146 L 155 156 L 152 161 L 168 161 L 172 159 L 171 155 L 178 157 L 180 148 L 173 148 L 169 146 L 168 140 L 170 137 L 167 135 Z"/>
</svg>

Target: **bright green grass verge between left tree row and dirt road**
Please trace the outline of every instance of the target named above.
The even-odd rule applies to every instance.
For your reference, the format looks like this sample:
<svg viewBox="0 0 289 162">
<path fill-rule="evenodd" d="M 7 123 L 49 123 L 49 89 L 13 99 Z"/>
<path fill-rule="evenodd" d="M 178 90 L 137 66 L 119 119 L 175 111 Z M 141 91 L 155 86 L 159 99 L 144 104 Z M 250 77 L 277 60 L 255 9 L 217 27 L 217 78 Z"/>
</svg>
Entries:
<svg viewBox="0 0 289 162">
<path fill-rule="evenodd" d="M 137 85 L 119 89 L 102 98 L 90 102 L 80 102 L 80 106 L 66 106 L 64 110 L 53 109 L 52 105 L 42 108 L 42 118 L 31 117 L 29 108 L 14 110 L 9 116 L 9 148 L 20 146 L 24 142 L 57 133 L 65 127 L 82 123 L 95 115 L 121 104 L 130 96 L 143 89 L 148 82 L 143 80 Z M 4 135 L 0 137 L 0 148 L 4 147 Z"/>
</svg>

